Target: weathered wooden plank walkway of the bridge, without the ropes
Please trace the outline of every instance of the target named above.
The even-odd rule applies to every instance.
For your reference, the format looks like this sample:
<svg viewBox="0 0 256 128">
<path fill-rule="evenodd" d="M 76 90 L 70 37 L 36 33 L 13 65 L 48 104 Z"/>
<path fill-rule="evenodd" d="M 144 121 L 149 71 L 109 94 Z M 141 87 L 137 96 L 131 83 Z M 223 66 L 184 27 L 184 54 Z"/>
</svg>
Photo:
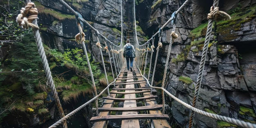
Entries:
<svg viewBox="0 0 256 128">
<path fill-rule="evenodd" d="M 110 96 L 102 97 L 105 101 L 99 116 L 90 119 L 92 128 L 107 128 L 109 121 L 121 124 L 121 128 L 171 128 L 168 115 L 162 114 L 162 105 L 155 100 L 156 90 L 146 86 L 134 65 L 130 72 L 124 64 Z M 123 107 L 118 107 L 120 104 Z"/>
</svg>

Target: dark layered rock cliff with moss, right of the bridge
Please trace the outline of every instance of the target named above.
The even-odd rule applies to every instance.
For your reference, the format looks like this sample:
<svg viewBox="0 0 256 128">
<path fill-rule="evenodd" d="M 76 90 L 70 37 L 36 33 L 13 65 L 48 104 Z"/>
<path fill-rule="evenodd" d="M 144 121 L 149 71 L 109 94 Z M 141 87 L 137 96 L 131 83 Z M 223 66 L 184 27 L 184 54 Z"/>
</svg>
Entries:
<svg viewBox="0 0 256 128">
<path fill-rule="evenodd" d="M 139 18 L 147 22 L 147 34 L 157 31 L 170 18 L 185 0 L 162 0 L 150 11 L 150 19 Z M 156 0 L 153 2 L 155 3 Z M 166 89 L 182 101 L 192 105 L 202 47 L 207 29 L 207 13 L 213 1 L 192 0 L 189 6 L 177 16 L 175 32 L 179 38 L 174 40 L 169 63 L 170 73 Z M 203 71 L 202 85 L 196 108 L 215 114 L 255 123 L 255 1 L 222 0 L 220 10 L 232 13 L 232 19 L 214 24 Z M 139 8 L 143 8 L 139 4 Z M 146 5 L 145 7 L 148 7 Z M 152 6 L 152 5 L 151 5 Z M 138 12 L 139 13 L 139 12 Z M 141 22 L 140 21 L 140 22 Z M 205 25 L 200 25 L 205 23 Z M 200 27 L 202 29 L 200 29 Z M 198 32 L 191 31 L 198 29 Z M 158 73 L 163 75 L 165 58 L 170 42 L 171 26 L 163 31 L 163 56 L 159 58 Z M 198 36 L 199 35 L 199 36 Z M 157 46 L 157 42 L 155 42 Z M 183 76 L 183 77 L 180 77 Z M 185 79 L 192 80 L 186 83 Z M 158 81 L 158 79 L 155 79 Z M 190 112 L 177 101 L 169 98 L 173 120 L 180 126 L 188 127 Z M 245 114 L 245 110 L 248 110 Z M 251 113 L 249 112 L 251 111 Z M 250 113 L 250 114 L 249 114 Z M 222 127 L 221 121 L 199 114 L 195 115 L 194 125 L 198 128 Z M 228 126 L 231 126 L 228 124 Z"/>
</svg>

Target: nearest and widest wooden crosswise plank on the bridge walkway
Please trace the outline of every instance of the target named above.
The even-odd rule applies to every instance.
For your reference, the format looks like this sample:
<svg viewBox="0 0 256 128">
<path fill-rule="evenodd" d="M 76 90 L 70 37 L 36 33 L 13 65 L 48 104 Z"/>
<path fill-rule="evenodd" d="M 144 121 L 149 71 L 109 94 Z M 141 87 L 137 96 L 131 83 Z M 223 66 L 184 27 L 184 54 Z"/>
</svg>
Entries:
<svg viewBox="0 0 256 128">
<path fill-rule="evenodd" d="M 106 116 L 97 116 L 92 117 L 90 121 L 117 121 L 124 119 L 169 119 L 167 114 L 129 114 L 129 115 L 106 115 Z M 128 124 L 126 124 L 128 125 Z"/>
</svg>

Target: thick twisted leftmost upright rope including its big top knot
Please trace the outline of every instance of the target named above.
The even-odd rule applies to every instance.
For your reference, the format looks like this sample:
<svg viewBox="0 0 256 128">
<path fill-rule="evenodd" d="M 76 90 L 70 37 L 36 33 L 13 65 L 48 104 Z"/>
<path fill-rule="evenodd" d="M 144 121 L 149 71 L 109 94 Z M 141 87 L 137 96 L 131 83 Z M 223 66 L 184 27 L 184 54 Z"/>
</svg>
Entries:
<svg viewBox="0 0 256 128">
<path fill-rule="evenodd" d="M 36 13 L 35 10 L 37 11 L 37 9 L 33 9 L 35 7 L 34 3 L 31 3 L 30 0 L 27 1 L 27 6 L 25 7 L 25 9 L 23 8 L 21 10 L 21 12 L 23 14 L 21 14 L 22 16 L 33 16 L 34 14 L 33 13 Z M 30 10 L 31 9 L 31 10 Z M 32 14 L 31 14 L 32 13 Z M 38 14 L 38 12 L 36 13 L 36 15 Z M 19 14 L 20 15 L 20 14 Z M 20 19 L 21 18 L 21 15 L 17 17 L 17 22 L 20 22 Z M 34 18 L 36 17 L 36 18 Z M 25 18 L 25 17 L 24 17 Z M 55 103 L 57 105 L 57 108 L 58 108 L 58 112 L 59 114 L 61 115 L 61 118 L 64 117 L 64 111 L 63 111 L 63 108 L 61 106 L 61 101 L 58 97 L 58 92 L 56 91 L 56 88 L 55 88 L 55 85 L 54 85 L 54 81 L 52 79 L 52 72 L 49 68 L 49 64 L 48 64 L 48 61 L 47 61 L 47 57 L 45 55 L 45 50 L 44 50 L 44 47 L 43 47 L 43 43 L 42 43 L 42 39 L 41 39 L 41 36 L 40 36 L 40 33 L 39 33 L 39 27 L 37 25 L 37 16 L 33 16 L 33 18 L 31 18 L 31 20 L 28 20 L 29 21 L 29 24 L 27 24 L 27 22 L 24 20 L 21 21 L 21 23 L 18 23 L 19 25 L 23 25 L 23 21 L 25 22 L 25 26 L 23 26 L 22 28 L 25 28 L 25 29 L 28 29 L 28 27 L 32 27 L 33 28 L 33 32 L 34 32 L 34 37 L 36 39 L 36 45 L 38 47 L 38 52 L 40 54 L 40 57 L 41 57 L 41 60 L 42 60 L 42 63 L 43 63 L 43 67 L 44 67 L 44 70 L 45 70 L 45 74 L 47 76 L 47 82 L 48 82 L 48 85 L 50 85 L 50 88 L 52 90 L 52 94 L 53 94 L 53 97 L 55 99 Z M 33 19 L 33 20 L 32 20 Z M 33 23 L 32 23 L 33 22 Z M 26 25 L 27 24 L 27 25 Z M 33 25 L 31 25 L 33 24 Z M 66 121 L 63 121 L 63 127 L 64 128 L 67 128 L 67 122 Z"/>
</svg>

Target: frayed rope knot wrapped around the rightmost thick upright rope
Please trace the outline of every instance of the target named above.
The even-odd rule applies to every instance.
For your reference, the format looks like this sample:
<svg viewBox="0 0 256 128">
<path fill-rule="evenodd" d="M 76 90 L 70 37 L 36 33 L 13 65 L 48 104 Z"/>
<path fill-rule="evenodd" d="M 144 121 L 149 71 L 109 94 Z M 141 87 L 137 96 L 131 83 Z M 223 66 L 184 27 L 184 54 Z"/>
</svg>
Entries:
<svg viewBox="0 0 256 128">
<path fill-rule="evenodd" d="M 230 20 L 231 17 L 229 14 L 225 13 L 224 11 L 219 11 L 219 7 L 213 7 L 210 8 L 210 13 L 207 15 L 207 19 L 214 19 L 216 21 L 219 20 Z"/>
</svg>

